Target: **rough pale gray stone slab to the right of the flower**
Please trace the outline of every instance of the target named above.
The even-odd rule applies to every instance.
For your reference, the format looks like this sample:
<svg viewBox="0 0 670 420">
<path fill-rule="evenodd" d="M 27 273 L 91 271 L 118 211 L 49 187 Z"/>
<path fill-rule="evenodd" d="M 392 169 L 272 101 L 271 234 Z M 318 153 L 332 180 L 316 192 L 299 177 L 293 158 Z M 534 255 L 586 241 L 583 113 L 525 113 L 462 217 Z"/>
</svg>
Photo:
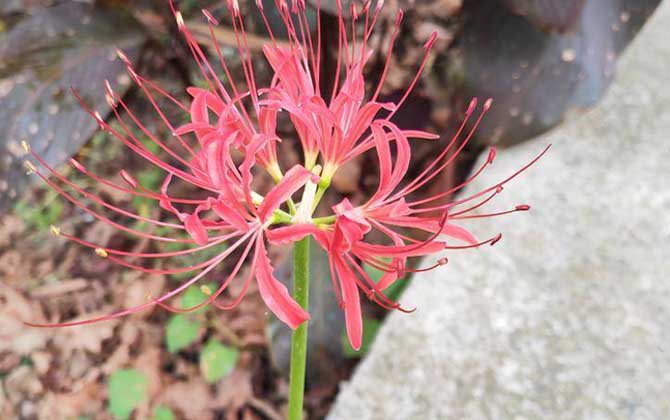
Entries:
<svg viewBox="0 0 670 420">
<path fill-rule="evenodd" d="M 670 419 L 670 3 L 604 101 L 499 153 L 470 191 L 554 147 L 403 297 L 331 420 Z"/>
</svg>

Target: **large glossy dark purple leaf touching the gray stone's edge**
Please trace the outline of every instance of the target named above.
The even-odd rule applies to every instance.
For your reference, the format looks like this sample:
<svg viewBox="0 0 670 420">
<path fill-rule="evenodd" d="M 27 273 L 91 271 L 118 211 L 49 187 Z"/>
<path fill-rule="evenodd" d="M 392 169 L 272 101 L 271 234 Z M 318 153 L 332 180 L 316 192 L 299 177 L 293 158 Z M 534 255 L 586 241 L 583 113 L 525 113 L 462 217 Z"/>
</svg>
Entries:
<svg viewBox="0 0 670 420">
<path fill-rule="evenodd" d="M 514 143 L 560 123 L 566 112 L 593 106 L 614 76 L 616 60 L 660 0 L 587 0 L 574 31 L 546 33 L 497 0 L 466 3 L 469 21 L 458 54 L 460 84 L 452 95 L 494 98 L 478 130 L 484 143 Z M 452 60 L 453 56 L 452 56 Z"/>
</svg>

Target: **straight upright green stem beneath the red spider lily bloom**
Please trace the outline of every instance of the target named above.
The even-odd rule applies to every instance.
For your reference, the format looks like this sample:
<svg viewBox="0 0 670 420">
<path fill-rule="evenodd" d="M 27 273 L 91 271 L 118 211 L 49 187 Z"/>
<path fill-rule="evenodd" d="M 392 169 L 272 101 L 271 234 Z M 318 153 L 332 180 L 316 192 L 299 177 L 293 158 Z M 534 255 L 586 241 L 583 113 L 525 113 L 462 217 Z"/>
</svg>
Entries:
<svg viewBox="0 0 670 420">
<path fill-rule="evenodd" d="M 293 246 L 293 298 L 305 310 L 309 302 L 309 236 Z M 302 420 L 307 362 L 307 322 L 291 336 L 291 368 L 289 374 L 288 420 Z"/>
</svg>

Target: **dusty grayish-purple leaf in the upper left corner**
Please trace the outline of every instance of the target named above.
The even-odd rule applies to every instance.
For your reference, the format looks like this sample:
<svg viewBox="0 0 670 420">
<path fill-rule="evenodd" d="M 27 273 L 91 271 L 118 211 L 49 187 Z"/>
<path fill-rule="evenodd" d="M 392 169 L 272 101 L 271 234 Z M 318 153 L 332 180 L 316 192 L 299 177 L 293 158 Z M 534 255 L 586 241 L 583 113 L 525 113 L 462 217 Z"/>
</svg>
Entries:
<svg viewBox="0 0 670 420">
<path fill-rule="evenodd" d="M 0 39 L 0 208 L 26 184 L 22 141 L 59 164 L 96 129 L 70 87 L 102 115 L 109 111 L 105 79 L 125 92 L 130 79 L 115 50 L 133 59 L 144 40 L 139 28 L 121 11 L 67 2 L 39 10 Z"/>
</svg>

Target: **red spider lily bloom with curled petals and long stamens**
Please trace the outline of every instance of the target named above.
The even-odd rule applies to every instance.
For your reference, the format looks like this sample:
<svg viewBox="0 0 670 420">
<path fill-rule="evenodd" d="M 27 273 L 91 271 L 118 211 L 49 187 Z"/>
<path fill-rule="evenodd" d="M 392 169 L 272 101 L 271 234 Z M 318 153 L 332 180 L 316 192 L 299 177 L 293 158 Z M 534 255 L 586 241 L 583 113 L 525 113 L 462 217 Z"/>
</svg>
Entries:
<svg viewBox="0 0 670 420">
<path fill-rule="evenodd" d="M 91 216 L 141 238 L 156 242 L 178 242 L 190 245 L 191 248 L 173 252 L 128 252 L 102 247 L 55 227 L 52 228 L 54 234 L 92 248 L 97 255 L 131 269 L 155 274 L 185 272 L 197 272 L 197 274 L 174 290 L 137 307 L 86 321 L 48 324 L 48 326 L 86 324 L 120 317 L 154 305 L 175 312 L 188 312 L 207 304 L 231 309 L 240 302 L 255 278 L 261 297 L 268 308 L 291 328 L 296 328 L 309 319 L 309 315 L 289 296 L 286 287 L 273 276 L 266 240 L 273 244 L 286 244 L 312 235 L 329 253 L 333 286 L 338 302 L 345 311 L 349 340 L 353 348 L 358 349 L 362 334 L 359 289 L 369 299 L 386 308 L 404 310 L 384 294 L 384 289 L 404 273 L 413 271 L 408 268 L 408 258 L 443 250 L 471 248 L 486 243 L 492 245 L 497 242 L 500 239 L 499 234 L 478 242 L 472 234 L 454 222 L 528 210 L 528 206 L 521 205 L 506 212 L 488 215 L 470 214 L 472 210 L 487 204 L 502 191 L 502 186 L 507 181 L 533 164 L 539 156 L 496 185 L 458 201 L 444 204 L 445 197 L 465 187 L 493 162 L 495 151 L 492 150 L 486 164 L 462 184 L 426 198 L 418 200 L 410 198 L 410 195 L 414 197 L 425 189 L 456 159 L 472 137 L 485 111 L 490 107 L 490 100 L 484 104 L 484 111 L 467 135 L 462 136 L 466 121 L 476 109 L 476 101 L 473 100 L 454 138 L 418 177 L 406 180 L 411 158 L 410 139 L 435 140 L 438 136 L 420 131 L 402 130 L 391 122 L 391 118 L 415 86 L 435 41 L 435 35 L 426 42 L 424 58 L 400 100 L 395 103 L 379 102 L 378 96 L 386 78 L 393 45 L 402 20 L 402 13 L 399 12 L 380 80 L 372 93 L 366 97 L 363 70 L 372 53 L 368 41 L 378 20 L 381 4 L 378 2 L 373 11 L 370 10 L 369 2 L 360 10 L 352 5 L 350 11 L 353 36 L 349 37 L 338 1 L 340 13 L 337 65 L 334 69 L 333 93 L 326 100 L 322 97 L 319 80 L 321 29 L 317 27 L 313 36 L 308 26 L 304 1 L 294 1 L 290 7 L 284 0 L 276 2 L 277 11 L 288 34 L 287 43 L 277 41 L 265 18 L 262 4 L 260 1 L 257 3 L 270 37 L 270 42 L 264 46 L 263 52 L 273 70 L 270 85 L 262 89 L 256 86 L 244 19 L 236 0 L 228 2 L 228 9 L 241 58 L 244 87 L 239 86 L 233 79 L 216 39 L 213 42 L 218 63 L 215 69 L 215 64 L 209 61 L 184 24 L 181 13 L 170 3 L 177 26 L 188 43 L 207 87 L 187 89 L 192 100 L 189 106 L 185 106 L 155 83 L 140 76 L 123 53 L 119 53 L 119 57 L 126 64 L 132 79 L 152 104 L 157 117 L 173 133 L 175 140 L 166 142 L 152 134 L 114 93 L 109 83 L 105 85 L 107 100 L 118 125 L 105 122 L 97 112 L 86 108 L 80 99 L 82 106 L 96 119 L 102 130 L 165 171 L 166 176 L 160 191 L 148 190 L 126 171 L 120 173 L 123 182 L 115 182 L 91 173 L 74 159 L 71 160 L 71 165 L 83 175 L 107 188 L 129 196 L 154 200 L 160 208 L 171 214 L 174 220 L 172 222 L 156 220 L 117 207 L 59 174 L 32 151 L 34 158 L 48 173 L 41 172 L 29 161 L 27 166 L 31 172 L 37 173 L 68 201 Z M 214 38 L 214 26 L 218 23 L 209 12 L 205 10 L 203 13 L 209 23 L 210 34 Z M 356 27 L 361 20 L 364 21 L 363 31 L 357 38 Z M 225 75 L 225 82 L 217 77 L 217 74 L 221 73 Z M 190 121 L 179 127 L 173 126 L 159 107 L 158 96 L 188 113 Z M 304 165 L 296 165 L 285 173 L 279 165 L 276 149 L 277 143 L 281 140 L 276 133 L 279 112 L 288 114 L 304 153 Z M 128 119 L 130 121 L 127 121 Z M 145 142 L 133 134 L 133 129 L 139 129 L 146 137 L 145 141 L 155 143 L 165 157 L 153 153 Z M 30 150 L 27 145 L 24 147 Z M 353 157 L 372 151 L 378 156 L 380 168 L 379 185 L 372 197 L 356 206 L 344 199 L 334 206 L 334 215 L 312 218 L 338 168 Z M 275 180 L 274 187 L 264 196 L 252 188 L 254 176 L 261 168 Z M 48 174 L 52 176 L 49 177 Z M 177 181 L 201 190 L 203 194 L 199 196 L 204 195 L 205 198 L 174 196 L 169 189 L 170 185 Z M 302 198 L 296 205 L 292 201 L 292 196 L 301 190 Z M 104 212 L 87 207 L 85 201 L 103 208 Z M 162 236 L 127 227 L 105 215 L 107 212 L 148 225 L 172 229 L 175 233 L 186 232 L 189 237 Z M 388 241 L 382 244 L 367 242 L 368 234 L 372 230 L 380 232 Z M 413 231 L 421 231 L 424 236 L 422 238 L 416 235 L 410 236 Z M 449 243 L 443 239 L 444 237 L 450 238 Z M 451 239 L 464 242 L 465 245 L 453 245 Z M 197 255 L 200 251 L 224 243 L 228 244 L 224 252 L 189 267 L 154 269 L 134 262 L 187 254 Z M 204 302 L 191 308 L 176 308 L 168 303 L 186 288 L 198 283 L 231 255 L 239 255 L 239 259 L 227 277 L 220 281 L 218 289 L 209 293 Z M 247 261 L 250 265 L 250 274 L 244 279 L 242 293 L 230 302 L 221 302 L 222 294 Z M 372 281 L 362 269 L 362 263 L 383 270 L 385 274 L 382 279 L 377 283 Z M 446 258 L 440 259 L 435 267 L 444 263 Z"/>
</svg>

